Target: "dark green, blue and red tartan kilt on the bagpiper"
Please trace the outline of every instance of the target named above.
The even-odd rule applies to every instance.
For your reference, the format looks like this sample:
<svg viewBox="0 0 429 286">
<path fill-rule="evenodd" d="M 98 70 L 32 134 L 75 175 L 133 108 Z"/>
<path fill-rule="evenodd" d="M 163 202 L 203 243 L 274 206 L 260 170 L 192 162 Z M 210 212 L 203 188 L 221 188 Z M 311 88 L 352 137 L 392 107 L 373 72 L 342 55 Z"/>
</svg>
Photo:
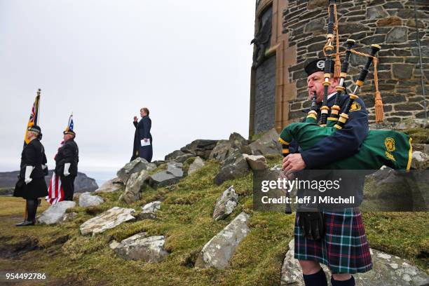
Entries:
<svg viewBox="0 0 429 286">
<path fill-rule="evenodd" d="M 371 254 L 359 208 L 323 212 L 325 237 L 307 240 L 295 220 L 295 253 L 299 260 L 318 261 L 332 273 L 363 273 L 372 269 Z"/>
</svg>

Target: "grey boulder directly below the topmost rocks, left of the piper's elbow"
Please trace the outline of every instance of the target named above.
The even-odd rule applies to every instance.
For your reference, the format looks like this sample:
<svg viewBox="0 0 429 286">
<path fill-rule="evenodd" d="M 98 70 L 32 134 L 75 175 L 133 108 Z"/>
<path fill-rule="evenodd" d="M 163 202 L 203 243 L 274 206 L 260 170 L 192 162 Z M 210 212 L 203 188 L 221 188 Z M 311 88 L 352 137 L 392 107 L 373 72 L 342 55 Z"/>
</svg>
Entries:
<svg viewBox="0 0 429 286">
<path fill-rule="evenodd" d="M 247 172 L 249 172 L 249 165 L 245 156 L 238 153 L 238 151 L 234 151 L 222 164 L 221 169 L 214 177 L 214 183 L 220 185 L 229 179 L 243 177 Z"/>
</svg>

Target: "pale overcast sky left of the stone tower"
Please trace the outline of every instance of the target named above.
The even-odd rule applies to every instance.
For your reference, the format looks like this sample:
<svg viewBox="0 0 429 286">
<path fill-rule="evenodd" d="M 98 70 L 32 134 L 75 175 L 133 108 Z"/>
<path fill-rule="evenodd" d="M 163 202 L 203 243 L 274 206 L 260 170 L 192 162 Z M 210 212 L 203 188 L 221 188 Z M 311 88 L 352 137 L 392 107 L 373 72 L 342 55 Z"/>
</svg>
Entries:
<svg viewBox="0 0 429 286">
<path fill-rule="evenodd" d="M 37 88 L 48 165 L 74 114 L 81 170 L 116 170 L 148 107 L 154 160 L 247 137 L 254 0 L 0 0 L 0 171 L 18 170 Z"/>
</svg>

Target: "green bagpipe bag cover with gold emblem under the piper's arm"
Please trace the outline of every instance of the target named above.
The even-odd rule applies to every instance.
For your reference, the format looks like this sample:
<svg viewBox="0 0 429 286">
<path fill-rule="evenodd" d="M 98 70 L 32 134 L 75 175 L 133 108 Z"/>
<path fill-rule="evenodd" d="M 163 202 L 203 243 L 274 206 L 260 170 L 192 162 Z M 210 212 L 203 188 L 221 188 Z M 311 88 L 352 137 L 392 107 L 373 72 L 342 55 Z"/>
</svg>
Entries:
<svg viewBox="0 0 429 286">
<path fill-rule="evenodd" d="M 316 123 L 291 123 L 280 133 L 280 142 L 294 139 L 301 149 L 313 147 L 321 139 L 336 132 L 331 126 Z M 395 170 L 409 170 L 411 165 L 411 137 L 394 130 L 369 130 L 360 151 L 341 161 L 327 165 L 328 170 L 377 170 L 386 165 Z"/>
</svg>

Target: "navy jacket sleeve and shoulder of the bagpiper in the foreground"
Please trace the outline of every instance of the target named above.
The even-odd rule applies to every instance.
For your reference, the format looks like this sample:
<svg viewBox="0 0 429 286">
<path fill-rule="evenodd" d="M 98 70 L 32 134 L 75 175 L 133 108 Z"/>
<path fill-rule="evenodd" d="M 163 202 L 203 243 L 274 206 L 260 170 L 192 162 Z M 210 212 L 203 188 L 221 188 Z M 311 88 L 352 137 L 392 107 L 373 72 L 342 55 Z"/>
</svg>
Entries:
<svg viewBox="0 0 429 286">
<path fill-rule="evenodd" d="M 348 95 L 342 95 L 339 102 L 341 112 L 346 109 Z M 335 96 L 329 98 L 327 105 L 334 105 Z M 319 104 L 320 105 L 320 104 Z M 304 109 L 308 112 L 309 109 Z M 304 118 L 305 120 L 305 118 Z M 320 110 L 318 110 L 318 121 L 320 120 Z M 365 137 L 368 134 L 368 113 L 364 102 L 357 98 L 353 103 L 346 125 L 341 130 L 336 130 L 334 135 L 325 137 L 315 144 L 311 149 L 300 150 L 297 143 L 292 141 L 290 153 L 300 153 L 306 163 L 306 169 L 322 169 L 324 165 L 340 161 L 343 158 L 353 156 L 360 149 Z"/>
</svg>

